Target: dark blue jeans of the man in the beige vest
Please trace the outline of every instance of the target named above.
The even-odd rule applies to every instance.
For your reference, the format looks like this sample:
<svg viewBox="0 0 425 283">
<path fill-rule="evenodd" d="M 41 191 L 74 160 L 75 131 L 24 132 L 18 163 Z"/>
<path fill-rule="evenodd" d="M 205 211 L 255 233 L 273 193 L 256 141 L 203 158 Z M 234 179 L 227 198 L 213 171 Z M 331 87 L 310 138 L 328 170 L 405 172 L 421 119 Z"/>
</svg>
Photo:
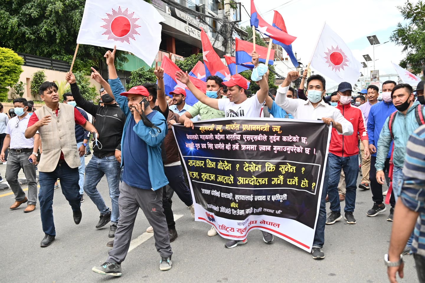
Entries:
<svg viewBox="0 0 425 283">
<path fill-rule="evenodd" d="M 38 201 L 40 202 L 40 215 L 43 231 L 45 234 L 55 236 L 56 230 L 53 222 L 53 194 L 54 183 L 60 179 L 60 188 L 65 199 L 71 205 L 72 211 L 80 211 L 80 200 L 78 186 L 78 168 L 70 168 L 64 161 L 59 161 L 53 172 L 40 172 L 40 191 Z"/>
</svg>

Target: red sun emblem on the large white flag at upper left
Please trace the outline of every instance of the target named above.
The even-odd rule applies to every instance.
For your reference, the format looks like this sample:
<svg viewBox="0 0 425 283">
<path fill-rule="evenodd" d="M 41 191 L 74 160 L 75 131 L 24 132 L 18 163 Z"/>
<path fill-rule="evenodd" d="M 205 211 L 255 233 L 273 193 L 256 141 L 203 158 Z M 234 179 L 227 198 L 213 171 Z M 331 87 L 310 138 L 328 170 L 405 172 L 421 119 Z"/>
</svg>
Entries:
<svg viewBox="0 0 425 283">
<path fill-rule="evenodd" d="M 108 18 L 102 19 L 106 24 L 102 25 L 101 28 L 106 29 L 103 34 L 108 35 L 108 40 L 112 39 L 128 44 L 130 44 L 130 39 L 136 40 L 134 35 L 139 34 L 136 29 L 140 28 L 140 25 L 136 25 L 139 18 L 134 17 L 134 12 L 129 13 L 128 8 L 122 11 L 121 7 L 118 7 L 118 11 L 112 9 L 112 14 L 106 14 Z"/>
</svg>

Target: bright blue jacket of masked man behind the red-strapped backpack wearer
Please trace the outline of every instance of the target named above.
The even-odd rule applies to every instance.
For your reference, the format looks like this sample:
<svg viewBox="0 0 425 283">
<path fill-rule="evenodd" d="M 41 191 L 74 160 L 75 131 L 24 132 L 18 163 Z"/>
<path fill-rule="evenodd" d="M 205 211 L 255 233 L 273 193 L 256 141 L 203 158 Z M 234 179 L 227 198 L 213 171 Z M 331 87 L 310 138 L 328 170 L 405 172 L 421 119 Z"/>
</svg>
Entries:
<svg viewBox="0 0 425 283">
<path fill-rule="evenodd" d="M 385 120 L 390 117 L 391 113 L 397 111 L 393 102 L 381 101 L 372 105 L 368 118 L 368 137 L 369 144 L 373 144 L 378 149 L 378 140 Z M 372 154 L 376 156 L 376 153 Z M 391 151 L 387 151 L 387 157 L 391 157 Z"/>
</svg>

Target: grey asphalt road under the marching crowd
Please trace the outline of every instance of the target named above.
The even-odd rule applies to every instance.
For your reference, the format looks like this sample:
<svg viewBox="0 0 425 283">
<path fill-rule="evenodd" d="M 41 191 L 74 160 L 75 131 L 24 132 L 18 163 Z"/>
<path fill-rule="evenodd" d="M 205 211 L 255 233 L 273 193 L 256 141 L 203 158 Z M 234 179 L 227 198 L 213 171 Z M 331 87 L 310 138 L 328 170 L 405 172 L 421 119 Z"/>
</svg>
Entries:
<svg viewBox="0 0 425 283">
<path fill-rule="evenodd" d="M 110 205 L 105 177 L 98 187 Z M 0 282 L 4 283 L 388 282 L 383 255 L 388 250 L 391 222 L 386 221 L 387 213 L 366 216 L 372 206 L 370 191 L 357 191 L 357 224 L 346 224 L 342 219 L 326 226 L 326 258 L 322 261 L 313 260 L 309 253 L 277 237 L 272 244 L 265 244 L 259 230 L 249 233 L 247 244 L 227 249 L 227 240 L 218 235 L 208 237 L 210 226 L 193 221 L 186 206 L 174 196 L 173 210 L 176 218 L 180 218 L 176 220 L 178 238 L 171 244 L 173 268 L 159 270 L 160 257 L 153 237 L 142 235 L 149 224 L 140 211 L 132 239 L 142 236 L 122 263 L 123 274 L 118 278 L 91 271 L 107 258 L 110 248 L 106 242 L 111 239 L 109 225 L 95 228 L 99 213 L 90 199 L 82 203 L 82 221 L 75 225 L 71 207 L 60 189 L 55 191 L 57 236 L 46 248 L 40 247 L 44 233 L 39 207 L 31 213 L 23 213 L 25 205 L 9 210 L 13 202 L 10 190 L 0 192 Z M 410 255 L 405 256 L 405 279 L 399 282 L 418 282 Z"/>
</svg>

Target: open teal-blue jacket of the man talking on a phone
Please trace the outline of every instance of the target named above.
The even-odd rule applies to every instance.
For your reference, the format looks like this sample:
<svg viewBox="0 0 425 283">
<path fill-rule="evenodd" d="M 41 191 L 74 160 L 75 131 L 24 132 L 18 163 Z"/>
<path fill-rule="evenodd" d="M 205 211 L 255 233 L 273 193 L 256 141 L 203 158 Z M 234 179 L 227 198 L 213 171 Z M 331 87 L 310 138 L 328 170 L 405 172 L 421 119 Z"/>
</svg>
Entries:
<svg viewBox="0 0 425 283">
<path fill-rule="evenodd" d="M 112 93 L 115 96 L 115 101 L 119 104 L 124 112 L 127 115 L 127 120 L 125 121 L 124 130 L 122 132 L 121 145 L 124 145 L 124 137 L 127 131 L 131 131 L 128 128 L 128 122 L 131 117 L 130 109 L 128 108 L 127 98 L 122 96 L 121 93 L 125 92 L 125 88 L 122 85 L 119 78 L 109 79 L 109 84 L 111 85 Z M 164 187 L 168 184 L 167 177 L 164 173 L 164 165 L 161 158 L 161 143 L 164 140 L 165 135 L 167 134 L 167 123 L 163 115 L 158 113 L 153 116 L 151 122 L 158 126 L 161 129 L 159 133 L 156 129 L 147 127 L 144 123 L 137 123 L 133 127 L 133 131 L 146 143 L 147 147 L 147 166 L 149 171 L 149 178 L 154 191 L 159 188 Z M 135 154 L 137 149 L 135 149 Z M 121 166 L 125 164 L 125 159 L 121 157 Z M 124 168 L 125 170 L 125 168 Z"/>
</svg>

